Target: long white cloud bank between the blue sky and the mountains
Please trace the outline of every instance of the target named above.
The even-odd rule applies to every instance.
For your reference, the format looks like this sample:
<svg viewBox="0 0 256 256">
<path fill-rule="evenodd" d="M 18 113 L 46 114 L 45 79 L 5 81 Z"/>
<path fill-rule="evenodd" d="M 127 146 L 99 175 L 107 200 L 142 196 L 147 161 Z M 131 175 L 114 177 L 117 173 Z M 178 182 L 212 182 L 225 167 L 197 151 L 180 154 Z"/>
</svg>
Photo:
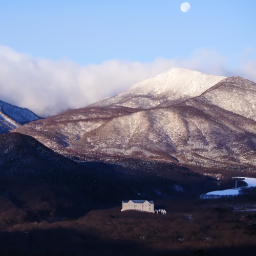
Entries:
<svg viewBox="0 0 256 256">
<path fill-rule="evenodd" d="M 109 60 L 79 66 L 69 60 L 35 58 L 0 46 L 0 99 L 47 116 L 114 96 L 172 67 L 256 81 L 255 60 L 243 58 L 232 70 L 228 69 L 230 62 L 215 50 L 197 49 L 187 58 L 158 58 L 147 63 Z"/>
</svg>

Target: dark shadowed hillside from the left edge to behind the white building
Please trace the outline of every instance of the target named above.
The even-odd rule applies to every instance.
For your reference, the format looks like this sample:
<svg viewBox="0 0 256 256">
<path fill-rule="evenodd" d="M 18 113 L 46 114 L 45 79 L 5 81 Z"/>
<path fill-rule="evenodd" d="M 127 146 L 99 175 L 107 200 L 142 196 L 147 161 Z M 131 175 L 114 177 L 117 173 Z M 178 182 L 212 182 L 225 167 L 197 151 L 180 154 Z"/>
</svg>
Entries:
<svg viewBox="0 0 256 256">
<path fill-rule="evenodd" d="M 222 186 L 172 163 L 130 159 L 133 168 L 80 165 L 18 133 L 0 136 L 0 152 L 0 231 L 37 223 L 44 229 L 47 223 L 74 220 L 92 209 L 120 208 L 130 198 L 189 200 Z"/>
</svg>

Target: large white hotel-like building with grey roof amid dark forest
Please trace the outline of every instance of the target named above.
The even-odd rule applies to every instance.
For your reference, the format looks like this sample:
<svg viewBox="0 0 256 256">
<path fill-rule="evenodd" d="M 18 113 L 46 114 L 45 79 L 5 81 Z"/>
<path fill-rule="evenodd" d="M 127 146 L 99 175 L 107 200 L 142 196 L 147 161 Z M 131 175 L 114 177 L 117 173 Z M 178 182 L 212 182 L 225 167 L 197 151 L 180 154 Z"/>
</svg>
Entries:
<svg viewBox="0 0 256 256">
<path fill-rule="evenodd" d="M 122 201 L 122 209 L 124 210 L 140 210 L 154 212 L 154 202 L 147 200 L 126 200 Z"/>
</svg>

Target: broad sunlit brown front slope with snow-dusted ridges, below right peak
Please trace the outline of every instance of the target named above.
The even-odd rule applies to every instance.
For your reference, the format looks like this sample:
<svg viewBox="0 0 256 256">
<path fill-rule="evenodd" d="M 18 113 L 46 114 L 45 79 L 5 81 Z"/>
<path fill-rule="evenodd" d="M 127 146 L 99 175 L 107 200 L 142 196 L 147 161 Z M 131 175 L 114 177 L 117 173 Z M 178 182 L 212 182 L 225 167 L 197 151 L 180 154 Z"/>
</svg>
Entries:
<svg viewBox="0 0 256 256">
<path fill-rule="evenodd" d="M 253 168 L 255 127 L 251 119 L 194 98 L 112 119 L 84 134 L 69 149 L 81 152 L 83 148 L 88 155 L 168 161 L 175 157 L 182 163 L 208 167 Z"/>
</svg>

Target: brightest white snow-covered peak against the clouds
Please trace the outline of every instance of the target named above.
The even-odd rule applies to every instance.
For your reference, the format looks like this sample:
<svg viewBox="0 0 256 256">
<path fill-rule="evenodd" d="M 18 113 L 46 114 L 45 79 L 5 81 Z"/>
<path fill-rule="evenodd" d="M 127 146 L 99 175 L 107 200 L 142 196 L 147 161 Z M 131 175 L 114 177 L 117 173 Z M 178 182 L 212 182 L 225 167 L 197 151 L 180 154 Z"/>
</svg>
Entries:
<svg viewBox="0 0 256 256">
<path fill-rule="evenodd" d="M 176 104 L 185 99 L 199 96 L 224 78 L 224 76 L 172 68 L 156 77 L 136 83 L 129 91 L 90 106 L 114 104 L 129 108 L 149 109 L 158 105 Z"/>
</svg>

